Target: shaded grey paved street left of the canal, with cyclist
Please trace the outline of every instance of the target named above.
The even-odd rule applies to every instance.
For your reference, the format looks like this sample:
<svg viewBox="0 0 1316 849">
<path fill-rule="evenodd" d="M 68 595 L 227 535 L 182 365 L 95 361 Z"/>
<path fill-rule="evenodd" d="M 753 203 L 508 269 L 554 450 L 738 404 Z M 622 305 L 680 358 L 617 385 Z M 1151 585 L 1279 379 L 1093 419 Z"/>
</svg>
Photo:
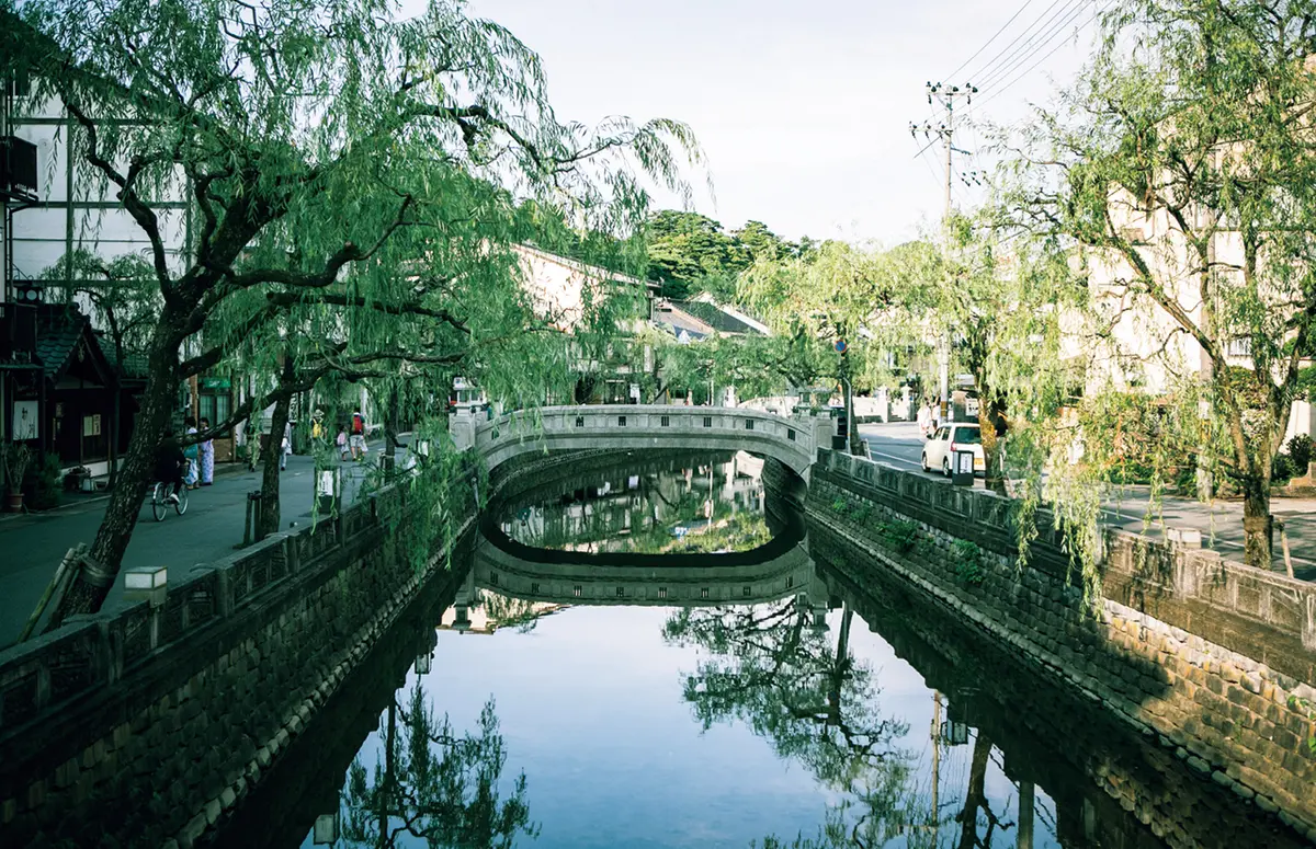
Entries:
<svg viewBox="0 0 1316 849">
<path fill-rule="evenodd" d="M 379 457 L 382 446 L 372 444 L 370 457 Z M 367 464 L 343 464 L 343 497 L 355 501 L 368 470 Z M 213 486 L 190 493 L 184 515 L 172 510 L 163 522 L 151 516 L 150 503 L 142 507 L 124 566 L 164 565 L 171 572 L 187 572 L 196 564 L 211 562 L 233 553 L 242 541 L 246 522 L 246 494 L 261 488 L 261 470 L 238 473 L 220 467 Z M 283 526 L 311 520 L 313 492 L 311 457 L 288 459 L 288 470 L 279 484 Z M 42 591 L 54 576 L 64 552 L 76 543 L 91 544 L 100 527 L 108 498 L 78 501 L 57 510 L 0 519 L 0 647 L 22 631 Z M 121 603 L 122 582 L 116 582 L 107 607 Z"/>
</svg>

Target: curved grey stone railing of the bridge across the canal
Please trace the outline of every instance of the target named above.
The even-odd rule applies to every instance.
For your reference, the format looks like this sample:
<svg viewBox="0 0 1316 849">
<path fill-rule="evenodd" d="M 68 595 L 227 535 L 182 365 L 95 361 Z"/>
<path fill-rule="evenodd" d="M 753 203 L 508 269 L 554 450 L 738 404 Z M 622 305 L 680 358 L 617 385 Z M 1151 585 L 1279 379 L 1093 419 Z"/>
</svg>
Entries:
<svg viewBox="0 0 1316 849">
<path fill-rule="evenodd" d="M 536 451 L 730 448 L 779 460 L 808 480 L 817 449 L 830 447 L 834 422 L 828 414 L 786 418 L 740 407 L 603 405 L 492 421 L 454 417 L 450 431 L 459 448 L 474 448 L 490 469 Z"/>
</svg>

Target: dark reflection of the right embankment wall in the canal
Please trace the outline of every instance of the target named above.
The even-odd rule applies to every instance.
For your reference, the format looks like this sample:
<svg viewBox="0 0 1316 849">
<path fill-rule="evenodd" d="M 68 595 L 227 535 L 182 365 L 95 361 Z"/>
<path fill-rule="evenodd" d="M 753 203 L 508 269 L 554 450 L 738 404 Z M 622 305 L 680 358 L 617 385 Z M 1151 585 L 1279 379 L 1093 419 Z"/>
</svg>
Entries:
<svg viewBox="0 0 1316 849">
<path fill-rule="evenodd" d="M 1309 845 L 1274 814 L 1200 779 L 1174 749 L 1148 743 L 1091 697 L 1038 674 L 1013 645 L 911 586 L 859 545 L 811 523 L 809 553 L 832 597 L 941 694 L 948 719 L 971 724 L 1000 749 L 1009 779 L 1045 790 L 1061 845 Z M 996 815 L 1020 821 L 1013 807 Z"/>
</svg>

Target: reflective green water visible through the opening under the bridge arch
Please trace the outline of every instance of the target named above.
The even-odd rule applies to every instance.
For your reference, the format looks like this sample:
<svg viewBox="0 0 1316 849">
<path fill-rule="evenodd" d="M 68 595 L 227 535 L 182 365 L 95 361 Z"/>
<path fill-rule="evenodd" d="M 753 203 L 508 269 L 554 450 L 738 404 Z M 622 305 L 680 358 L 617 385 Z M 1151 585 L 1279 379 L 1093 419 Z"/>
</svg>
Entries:
<svg viewBox="0 0 1316 849">
<path fill-rule="evenodd" d="M 721 452 L 641 474 L 601 470 L 517 503 L 503 532 L 537 548 L 694 553 L 749 551 L 771 534 L 763 515 L 763 460 Z"/>
</svg>

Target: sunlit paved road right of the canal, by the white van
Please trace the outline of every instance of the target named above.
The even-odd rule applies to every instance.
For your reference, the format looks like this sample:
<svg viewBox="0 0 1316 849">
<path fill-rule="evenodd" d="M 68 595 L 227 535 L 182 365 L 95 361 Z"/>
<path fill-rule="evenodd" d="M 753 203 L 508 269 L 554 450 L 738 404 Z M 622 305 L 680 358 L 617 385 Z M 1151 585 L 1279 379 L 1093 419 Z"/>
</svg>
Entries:
<svg viewBox="0 0 1316 849">
<path fill-rule="evenodd" d="M 917 424 L 912 422 L 861 424 L 859 435 L 869 443 L 874 460 L 924 473 L 919 463 L 924 440 L 919 435 Z M 945 480 L 936 473 L 930 473 L 929 477 Z M 980 478 L 978 486 L 982 486 Z M 1129 486 L 1112 497 L 1104 511 L 1107 522 L 1133 532 L 1141 532 L 1146 527 L 1148 534 L 1158 536 L 1163 527 L 1196 528 L 1202 531 L 1203 545 L 1217 549 L 1230 560 L 1242 560 L 1242 503 L 1238 501 L 1216 501 L 1205 505 L 1190 498 L 1165 497 L 1161 499 L 1159 514 L 1149 518 L 1146 488 Z M 1308 581 L 1316 580 L 1316 501 L 1277 498 L 1271 502 L 1271 511 L 1286 520 L 1294 573 Z M 1279 549 L 1277 534 L 1273 568 L 1283 572 L 1284 559 Z"/>
</svg>

